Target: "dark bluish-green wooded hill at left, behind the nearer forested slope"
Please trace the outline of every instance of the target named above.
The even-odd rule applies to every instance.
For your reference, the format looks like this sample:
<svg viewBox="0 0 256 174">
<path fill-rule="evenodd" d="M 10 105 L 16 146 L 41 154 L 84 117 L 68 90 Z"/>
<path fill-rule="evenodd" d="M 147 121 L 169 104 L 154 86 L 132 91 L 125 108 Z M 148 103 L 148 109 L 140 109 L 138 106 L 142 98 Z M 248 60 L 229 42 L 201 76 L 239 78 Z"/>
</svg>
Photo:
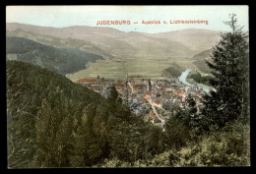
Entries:
<svg viewBox="0 0 256 174">
<path fill-rule="evenodd" d="M 103 59 L 85 51 L 55 48 L 22 37 L 7 37 L 6 53 L 7 59 L 39 65 L 61 75 L 86 69 L 88 62 Z"/>
</svg>

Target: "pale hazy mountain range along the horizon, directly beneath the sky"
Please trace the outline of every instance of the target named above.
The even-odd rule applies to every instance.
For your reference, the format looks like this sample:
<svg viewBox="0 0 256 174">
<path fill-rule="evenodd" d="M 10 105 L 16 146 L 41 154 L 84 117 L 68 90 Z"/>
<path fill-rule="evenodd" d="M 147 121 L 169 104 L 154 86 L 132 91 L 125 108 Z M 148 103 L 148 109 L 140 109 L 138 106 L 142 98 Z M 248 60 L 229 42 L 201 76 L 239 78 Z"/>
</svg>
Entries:
<svg viewBox="0 0 256 174">
<path fill-rule="evenodd" d="M 7 24 L 7 30 L 16 29 L 57 38 L 84 40 L 117 58 L 191 58 L 201 51 L 212 48 L 220 38 L 220 31 L 209 29 L 143 33 L 84 26 L 57 29 Z"/>
</svg>

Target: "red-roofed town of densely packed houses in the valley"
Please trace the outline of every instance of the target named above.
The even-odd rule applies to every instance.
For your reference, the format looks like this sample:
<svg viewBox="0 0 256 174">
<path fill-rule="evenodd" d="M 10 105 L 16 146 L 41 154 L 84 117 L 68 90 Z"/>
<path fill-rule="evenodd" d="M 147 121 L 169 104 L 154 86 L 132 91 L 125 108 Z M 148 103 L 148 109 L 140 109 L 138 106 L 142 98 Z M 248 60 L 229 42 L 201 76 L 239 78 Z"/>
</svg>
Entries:
<svg viewBox="0 0 256 174">
<path fill-rule="evenodd" d="M 113 82 L 101 82 L 100 79 L 79 79 L 75 83 L 91 88 L 105 98 L 109 96 L 110 87 L 114 86 L 123 102 L 130 107 L 133 113 L 137 115 L 148 113 L 152 123 L 160 126 L 163 126 L 165 121 L 160 116 L 160 111 L 165 110 L 163 105 L 166 103 L 181 105 L 188 94 L 195 97 L 201 97 L 203 94 L 203 91 L 198 88 L 181 85 L 177 79 L 169 81 L 129 79 Z M 167 93 L 167 97 L 163 97 L 164 93 Z M 198 111 L 200 104 L 197 104 Z"/>
</svg>

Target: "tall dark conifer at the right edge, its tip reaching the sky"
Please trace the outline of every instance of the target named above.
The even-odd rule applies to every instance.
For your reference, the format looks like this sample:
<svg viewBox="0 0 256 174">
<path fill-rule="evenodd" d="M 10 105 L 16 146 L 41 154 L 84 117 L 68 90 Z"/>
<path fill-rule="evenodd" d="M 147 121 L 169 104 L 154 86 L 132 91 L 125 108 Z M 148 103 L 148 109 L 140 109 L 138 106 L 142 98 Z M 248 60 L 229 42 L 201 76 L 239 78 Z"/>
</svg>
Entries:
<svg viewBox="0 0 256 174">
<path fill-rule="evenodd" d="M 211 81 L 216 91 L 204 97 L 204 115 L 221 127 L 248 115 L 248 43 L 234 14 L 224 24 L 232 31 L 221 33 L 211 55 L 213 63 L 206 61 L 216 78 Z"/>
</svg>

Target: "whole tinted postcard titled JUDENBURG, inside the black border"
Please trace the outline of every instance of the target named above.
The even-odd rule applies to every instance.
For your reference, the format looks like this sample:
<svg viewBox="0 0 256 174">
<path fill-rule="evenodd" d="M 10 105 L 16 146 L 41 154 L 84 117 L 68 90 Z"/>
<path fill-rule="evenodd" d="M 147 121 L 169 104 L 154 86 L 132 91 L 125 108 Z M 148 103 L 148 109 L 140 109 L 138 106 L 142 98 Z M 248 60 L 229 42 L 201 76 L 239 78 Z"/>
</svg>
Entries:
<svg viewBox="0 0 256 174">
<path fill-rule="evenodd" d="M 8 168 L 250 166 L 248 6 L 6 6 Z"/>
</svg>

